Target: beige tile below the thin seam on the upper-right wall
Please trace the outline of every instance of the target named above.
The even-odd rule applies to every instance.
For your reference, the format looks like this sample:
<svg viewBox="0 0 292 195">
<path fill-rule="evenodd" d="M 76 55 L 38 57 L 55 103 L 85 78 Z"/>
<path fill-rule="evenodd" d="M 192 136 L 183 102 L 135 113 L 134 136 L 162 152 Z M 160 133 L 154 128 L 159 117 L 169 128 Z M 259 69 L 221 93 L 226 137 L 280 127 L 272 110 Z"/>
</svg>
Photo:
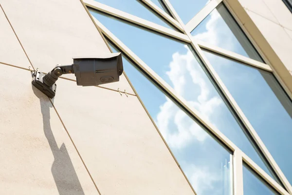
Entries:
<svg viewBox="0 0 292 195">
<path fill-rule="evenodd" d="M 288 69 L 292 69 L 292 40 L 283 27 L 263 19 L 253 12 L 247 11 L 248 15 L 255 22 L 257 28 L 269 42 L 275 53 Z"/>
</svg>

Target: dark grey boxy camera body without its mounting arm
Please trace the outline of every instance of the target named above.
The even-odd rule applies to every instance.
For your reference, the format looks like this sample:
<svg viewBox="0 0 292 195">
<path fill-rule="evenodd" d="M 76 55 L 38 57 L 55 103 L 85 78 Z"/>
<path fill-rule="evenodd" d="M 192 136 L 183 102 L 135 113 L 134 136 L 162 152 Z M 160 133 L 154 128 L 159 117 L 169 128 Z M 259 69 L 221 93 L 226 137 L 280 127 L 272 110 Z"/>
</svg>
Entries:
<svg viewBox="0 0 292 195">
<path fill-rule="evenodd" d="M 123 73 L 122 54 L 73 58 L 73 73 L 77 85 L 82 86 L 96 86 L 119 81 L 119 76 Z"/>
</svg>

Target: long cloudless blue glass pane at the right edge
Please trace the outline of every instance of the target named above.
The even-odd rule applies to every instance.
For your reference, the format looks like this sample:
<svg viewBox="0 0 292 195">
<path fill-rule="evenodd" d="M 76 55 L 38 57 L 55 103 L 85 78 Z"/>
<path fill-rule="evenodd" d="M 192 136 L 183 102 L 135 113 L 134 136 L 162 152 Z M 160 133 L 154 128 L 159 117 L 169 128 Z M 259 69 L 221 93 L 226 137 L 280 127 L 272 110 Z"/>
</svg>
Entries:
<svg viewBox="0 0 292 195">
<path fill-rule="evenodd" d="M 204 52 L 292 183 L 292 102 L 273 74 Z"/>
</svg>

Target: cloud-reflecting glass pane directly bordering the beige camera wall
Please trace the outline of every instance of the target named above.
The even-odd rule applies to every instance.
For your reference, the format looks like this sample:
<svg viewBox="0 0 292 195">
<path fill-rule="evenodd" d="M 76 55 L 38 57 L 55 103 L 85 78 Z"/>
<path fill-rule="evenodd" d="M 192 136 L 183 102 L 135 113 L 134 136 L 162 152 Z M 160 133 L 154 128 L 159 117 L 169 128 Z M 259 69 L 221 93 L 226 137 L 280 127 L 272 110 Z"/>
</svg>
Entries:
<svg viewBox="0 0 292 195">
<path fill-rule="evenodd" d="M 113 52 L 117 52 L 113 49 Z M 232 155 L 127 59 L 124 70 L 198 195 L 232 195 Z"/>
</svg>

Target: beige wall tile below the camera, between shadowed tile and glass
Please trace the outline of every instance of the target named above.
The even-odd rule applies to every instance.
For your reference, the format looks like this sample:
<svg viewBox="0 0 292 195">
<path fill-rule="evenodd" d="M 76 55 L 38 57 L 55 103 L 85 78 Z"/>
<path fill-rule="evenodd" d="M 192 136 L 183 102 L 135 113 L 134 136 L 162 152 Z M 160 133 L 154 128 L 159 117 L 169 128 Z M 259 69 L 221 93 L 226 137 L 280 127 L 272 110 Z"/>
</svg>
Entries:
<svg viewBox="0 0 292 195">
<path fill-rule="evenodd" d="M 194 194 L 137 97 L 61 79 L 54 105 L 101 194 Z"/>
</svg>

